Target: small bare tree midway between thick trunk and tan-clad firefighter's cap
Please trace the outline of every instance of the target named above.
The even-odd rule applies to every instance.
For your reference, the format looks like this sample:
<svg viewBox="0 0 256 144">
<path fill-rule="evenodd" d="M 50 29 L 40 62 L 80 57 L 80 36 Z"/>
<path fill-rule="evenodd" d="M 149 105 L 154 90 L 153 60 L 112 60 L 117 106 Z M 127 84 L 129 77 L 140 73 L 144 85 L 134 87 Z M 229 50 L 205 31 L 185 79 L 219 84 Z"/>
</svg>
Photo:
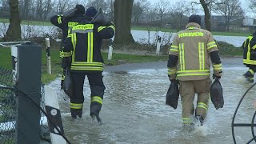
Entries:
<svg viewBox="0 0 256 144">
<path fill-rule="evenodd" d="M 169 5 L 170 5 L 170 2 L 168 0 L 160 0 L 160 2 L 158 2 L 156 4 L 157 14 L 160 18 L 161 26 L 162 26 L 162 19 L 164 18 L 164 14 L 166 14 L 168 12 Z"/>
</svg>

